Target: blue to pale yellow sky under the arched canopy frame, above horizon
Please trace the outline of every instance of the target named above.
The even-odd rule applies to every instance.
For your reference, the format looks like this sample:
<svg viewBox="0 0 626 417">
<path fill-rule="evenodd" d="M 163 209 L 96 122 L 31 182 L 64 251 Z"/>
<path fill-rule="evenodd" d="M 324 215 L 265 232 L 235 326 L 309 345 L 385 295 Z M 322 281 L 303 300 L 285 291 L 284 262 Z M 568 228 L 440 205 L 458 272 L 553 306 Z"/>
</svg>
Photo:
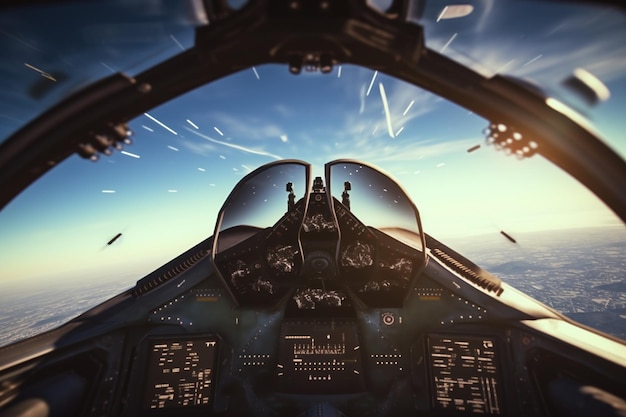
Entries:
<svg viewBox="0 0 626 417">
<path fill-rule="evenodd" d="M 338 158 L 380 166 L 438 238 L 619 224 L 541 157 L 519 161 L 486 146 L 487 124 L 369 69 L 247 69 L 133 120 L 125 153 L 72 157 L 7 206 L 3 279 L 139 278 L 210 236 L 232 187 L 282 158 L 320 176 Z"/>
</svg>

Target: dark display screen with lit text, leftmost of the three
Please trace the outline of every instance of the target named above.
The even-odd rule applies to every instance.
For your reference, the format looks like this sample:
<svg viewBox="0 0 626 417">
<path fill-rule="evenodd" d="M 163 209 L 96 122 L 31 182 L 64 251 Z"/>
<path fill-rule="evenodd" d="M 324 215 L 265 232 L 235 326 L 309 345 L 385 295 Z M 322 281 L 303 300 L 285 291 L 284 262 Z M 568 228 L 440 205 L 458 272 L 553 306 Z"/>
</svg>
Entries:
<svg viewBox="0 0 626 417">
<path fill-rule="evenodd" d="M 217 344 L 213 337 L 150 341 L 144 409 L 211 404 Z"/>
</svg>

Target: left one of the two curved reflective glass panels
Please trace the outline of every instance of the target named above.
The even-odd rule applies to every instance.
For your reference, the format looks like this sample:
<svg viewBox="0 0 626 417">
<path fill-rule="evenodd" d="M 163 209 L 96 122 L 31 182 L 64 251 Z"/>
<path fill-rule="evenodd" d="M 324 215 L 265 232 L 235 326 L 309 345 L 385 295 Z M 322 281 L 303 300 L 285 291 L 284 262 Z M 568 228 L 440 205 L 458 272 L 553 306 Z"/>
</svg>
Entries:
<svg viewBox="0 0 626 417">
<path fill-rule="evenodd" d="M 218 214 L 213 265 L 238 302 L 277 300 L 285 277 L 302 266 L 299 231 L 310 165 L 295 160 L 264 165 L 242 179 Z"/>
</svg>

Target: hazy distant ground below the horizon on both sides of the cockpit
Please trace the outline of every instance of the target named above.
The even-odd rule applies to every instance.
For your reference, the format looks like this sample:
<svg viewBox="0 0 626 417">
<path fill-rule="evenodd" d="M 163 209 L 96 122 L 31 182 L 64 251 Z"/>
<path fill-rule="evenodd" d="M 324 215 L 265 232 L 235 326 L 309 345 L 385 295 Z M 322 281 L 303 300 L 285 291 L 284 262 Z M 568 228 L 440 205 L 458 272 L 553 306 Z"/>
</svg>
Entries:
<svg viewBox="0 0 626 417">
<path fill-rule="evenodd" d="M 494 233 L 486 239 L 444 243 L 566 316 L 626 340 L 623 227 L 514 238 L 516 243 Z M 139 278 L 85 276 L 71 286 L 0 282 L 0 346 L 53 329 L 132 287 Z"/>
</svg>

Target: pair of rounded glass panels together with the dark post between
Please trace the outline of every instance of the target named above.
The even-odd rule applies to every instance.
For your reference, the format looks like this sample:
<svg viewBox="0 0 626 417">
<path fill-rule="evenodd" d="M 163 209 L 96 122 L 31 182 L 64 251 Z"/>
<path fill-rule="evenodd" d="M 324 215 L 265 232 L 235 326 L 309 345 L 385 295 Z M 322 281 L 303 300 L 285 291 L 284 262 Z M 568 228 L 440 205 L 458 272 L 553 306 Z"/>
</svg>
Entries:
<svg viewBox="0 0 626 417">
<path fill-rule="evenodd" d="M 235 300 L 300 309 L 401 306 L 426 263 L 419 212 L 402 187 L 359 161 L 285 160 L 243 178 L 218 215 L 212 257 Z M 306 293 L 302 293 L 306 289 Z M 332 291 L 332 293 L 330 292 Z"/>
</svg>

